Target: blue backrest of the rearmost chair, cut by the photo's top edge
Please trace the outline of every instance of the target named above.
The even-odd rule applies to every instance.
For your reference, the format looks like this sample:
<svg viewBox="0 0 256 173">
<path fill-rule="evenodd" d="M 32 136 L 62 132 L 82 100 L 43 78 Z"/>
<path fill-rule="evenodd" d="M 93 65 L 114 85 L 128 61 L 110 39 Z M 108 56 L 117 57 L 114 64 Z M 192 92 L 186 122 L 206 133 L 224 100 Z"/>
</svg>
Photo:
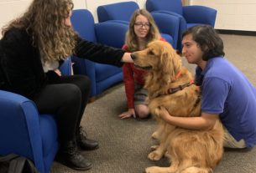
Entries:
<svg viewBox="0 0 256 173">
<path fill-rule="evenodd" d="M 165 10 L 183 15 L 181 0 L 147 0 L 146 8 L 149 12 Z"/>
</svg>

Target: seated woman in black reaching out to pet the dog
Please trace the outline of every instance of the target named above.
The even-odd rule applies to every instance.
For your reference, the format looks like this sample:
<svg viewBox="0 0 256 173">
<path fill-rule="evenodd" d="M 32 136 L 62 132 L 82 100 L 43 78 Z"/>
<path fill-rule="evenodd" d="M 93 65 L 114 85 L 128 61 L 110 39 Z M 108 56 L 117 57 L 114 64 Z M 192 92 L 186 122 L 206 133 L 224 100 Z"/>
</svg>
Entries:
<svg viewBox="0 0 256 173">
<path fill-rule="evenodd" d="M 55 114 L 63 163 L 88 170 L 81 150 L 98 148 L 80 126 L 90 93 L 86 76 L 61 76 L 58 67 L 71 54 L 97 63 L 122 66 L 129 53 L 81 39 L 71 27 L 71 0 L 34 0 L 26 13 L 3 28 L 0 40 L 0 89 L 32 99 L 40 114 Z"/>
</svg>

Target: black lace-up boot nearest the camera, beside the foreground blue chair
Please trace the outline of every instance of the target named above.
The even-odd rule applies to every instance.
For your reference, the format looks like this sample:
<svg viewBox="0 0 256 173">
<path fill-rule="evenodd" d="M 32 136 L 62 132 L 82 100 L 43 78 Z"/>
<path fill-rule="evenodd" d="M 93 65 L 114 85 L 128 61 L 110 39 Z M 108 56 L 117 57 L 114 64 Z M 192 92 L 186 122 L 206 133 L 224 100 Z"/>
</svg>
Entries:
<svg viewBox="0 0 256 173">
<path fill-rule="evenodd" d="M 79 153 L 75 140 L 71 140 L 60 145 L 57 160 L 59 160 L 63 165 L 74 170 L 91 169 L 91 162 L 86 160 L 84 156 Z"/>
</svg>

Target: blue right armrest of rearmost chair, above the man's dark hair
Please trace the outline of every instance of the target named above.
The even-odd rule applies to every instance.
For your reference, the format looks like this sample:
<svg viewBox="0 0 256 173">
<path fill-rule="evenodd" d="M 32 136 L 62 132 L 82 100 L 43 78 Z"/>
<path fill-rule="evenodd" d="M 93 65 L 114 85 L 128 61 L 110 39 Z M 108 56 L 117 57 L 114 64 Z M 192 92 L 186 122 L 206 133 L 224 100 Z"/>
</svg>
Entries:
<svg viewBox="0 0 256 173">
<path fill-rule="evenodd" d="M 184 6 L 183 16 L 186 23 L 209 24 L 214 27 L 217 10 L 204 6 Z"/>
</svg>

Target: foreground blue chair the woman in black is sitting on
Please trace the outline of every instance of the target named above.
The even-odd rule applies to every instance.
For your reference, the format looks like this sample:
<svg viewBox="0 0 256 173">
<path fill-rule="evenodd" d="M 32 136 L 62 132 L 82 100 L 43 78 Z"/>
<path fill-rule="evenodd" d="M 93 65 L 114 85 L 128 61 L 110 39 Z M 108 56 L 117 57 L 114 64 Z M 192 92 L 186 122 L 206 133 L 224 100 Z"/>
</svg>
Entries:
<svg viewBox="0 0 256 173">
<path fill-rule="evenodd" d="M 71 74 L 70 58 L 60 71 Z M 0 112 L 0 155 L 23 155 L 34 162 L 40 173 L 49 173 L 59 148 L 54 115 L 39 114 L 32 100 L 3 90 Z"/>
</svg>

